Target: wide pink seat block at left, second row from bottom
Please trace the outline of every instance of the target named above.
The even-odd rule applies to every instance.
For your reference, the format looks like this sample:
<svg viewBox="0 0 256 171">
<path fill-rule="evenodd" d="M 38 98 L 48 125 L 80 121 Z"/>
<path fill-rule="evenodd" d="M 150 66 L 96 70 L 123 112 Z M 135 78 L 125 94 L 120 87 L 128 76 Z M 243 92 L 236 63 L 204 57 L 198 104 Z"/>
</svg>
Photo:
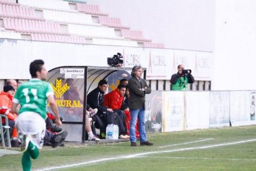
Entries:
<svg viewBox="0 0 256 171">
<path fill-rule="evenodd" d="M 3 22 L 5 29 L 17 32 L 67 34 L 61 32 L 60 25 L 54 22 L 23 18 L 4 18 Z"/>
</svg>

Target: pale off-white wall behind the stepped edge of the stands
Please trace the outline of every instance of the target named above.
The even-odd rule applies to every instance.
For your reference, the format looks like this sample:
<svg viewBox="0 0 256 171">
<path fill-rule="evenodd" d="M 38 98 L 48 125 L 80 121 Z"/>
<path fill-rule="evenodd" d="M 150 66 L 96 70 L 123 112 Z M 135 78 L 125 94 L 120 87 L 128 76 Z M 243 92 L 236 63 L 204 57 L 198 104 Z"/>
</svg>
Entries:
<svg viewBox="0 0 256 171">
<path fill-rule="evenodd" d="M 166 48 L 212 51 L 214 0 L 88 0 Z"/>
</svg>

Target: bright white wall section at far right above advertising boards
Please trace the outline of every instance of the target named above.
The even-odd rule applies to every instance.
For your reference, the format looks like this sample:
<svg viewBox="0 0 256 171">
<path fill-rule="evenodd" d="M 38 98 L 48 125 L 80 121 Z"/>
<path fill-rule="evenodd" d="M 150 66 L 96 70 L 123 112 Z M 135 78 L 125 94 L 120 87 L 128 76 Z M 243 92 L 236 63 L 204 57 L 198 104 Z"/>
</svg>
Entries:
<svg viewBox="0 0 256 171">
<path fill-rule="evenodd" d="M 256 1 L 216 1 L 212 90 L 256 87 Z"/>
</svg>

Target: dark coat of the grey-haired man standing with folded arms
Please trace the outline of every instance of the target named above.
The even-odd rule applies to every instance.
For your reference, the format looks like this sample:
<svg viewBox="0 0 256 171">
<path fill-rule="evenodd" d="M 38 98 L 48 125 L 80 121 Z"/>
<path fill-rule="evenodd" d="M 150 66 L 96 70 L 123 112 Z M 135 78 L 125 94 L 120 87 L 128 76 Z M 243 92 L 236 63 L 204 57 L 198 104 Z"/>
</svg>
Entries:
<svg viewBox="0 0 256 171">
<path fill-rule="evenodd" d="M 146 81 L 141 78 L 140 81 L 136 77 L 132 77 L 128 82 L 128 88 L 130 92 L 129 108 L 130 109 L 143 109 L 145 110 L 145 94 L 151 93 L 151 88 L 147 86 Z M 145 91 L 139 89 L 145 88 Z"/>
</svg>

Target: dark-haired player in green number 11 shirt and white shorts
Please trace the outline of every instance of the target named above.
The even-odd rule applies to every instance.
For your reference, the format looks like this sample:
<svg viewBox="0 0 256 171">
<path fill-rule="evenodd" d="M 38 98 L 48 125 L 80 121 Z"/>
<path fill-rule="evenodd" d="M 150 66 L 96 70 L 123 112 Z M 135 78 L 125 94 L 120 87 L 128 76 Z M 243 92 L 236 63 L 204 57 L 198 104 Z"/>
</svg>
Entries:
<svg viewBox="0 0 256 171">
<path fill-rule="evenodd" d="M 47 70 L 43 60 L 34 60 L 29 68 L 32 79 L 17 89 L 13 99 L 12 111 L 18 113 L 16 126 L 18 139 L 23 153 L 23 170 L 31 169 L 31 158 L 39 156 L 39 149 L 44 144 L 46 132 L 47 100 L 55 114 L 55 122 L 61 125 L 58 108 L 54 100 L 51 85 L 46 82 Z M 17 106 L 20 104 L 19 111 Z"/>
</svg>

